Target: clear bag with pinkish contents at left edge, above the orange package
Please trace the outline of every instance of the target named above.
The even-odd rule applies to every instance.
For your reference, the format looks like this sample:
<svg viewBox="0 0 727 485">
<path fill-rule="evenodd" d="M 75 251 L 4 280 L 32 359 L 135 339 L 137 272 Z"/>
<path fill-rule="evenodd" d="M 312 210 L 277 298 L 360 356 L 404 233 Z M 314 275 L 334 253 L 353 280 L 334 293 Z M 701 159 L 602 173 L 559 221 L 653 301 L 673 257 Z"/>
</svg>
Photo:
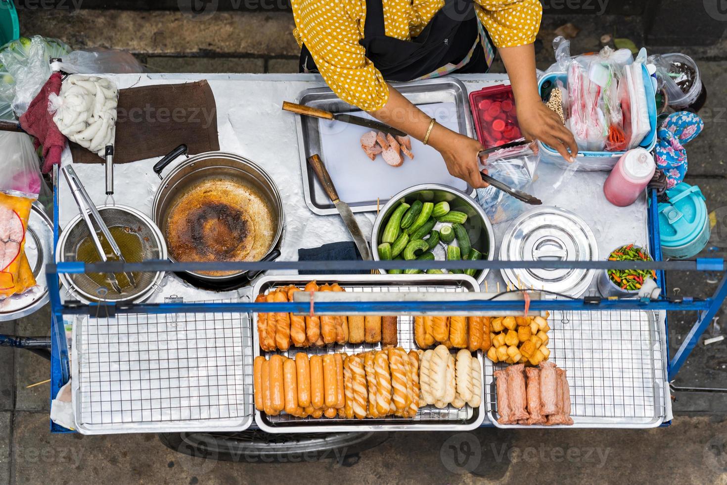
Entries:
<svg viewBox="0 0 727 485">
<path fill-rule="evenodd" d="M 0 191 L 37 199 L 43 182 L 31 137 L 25 133 L 0 132 L 0 153 L 3 154 Z"/>
</svg>

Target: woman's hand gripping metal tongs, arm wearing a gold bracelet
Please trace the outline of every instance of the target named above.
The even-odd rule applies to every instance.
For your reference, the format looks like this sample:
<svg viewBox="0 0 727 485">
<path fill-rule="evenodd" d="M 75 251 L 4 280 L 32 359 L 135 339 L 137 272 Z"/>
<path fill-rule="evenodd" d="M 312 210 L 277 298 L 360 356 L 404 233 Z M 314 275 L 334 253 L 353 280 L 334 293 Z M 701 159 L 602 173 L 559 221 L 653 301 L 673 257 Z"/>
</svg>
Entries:
<svg viewBox="0 0 727 485">
<path fill-rule="evenodd" d="M 451 175 L 465 180 L 470 187 L 487 187 L 480 177 L 477 154 L 484 149 L 480 142 L 437 124 L 432 129 L 430 145 L 441 153 Z M 484 164 L 486 159 L 487 156 L 482 156 L 479 160 Z M 483 170 L 483 172 L 487 173 L 487 170 Z"/>
</svg>

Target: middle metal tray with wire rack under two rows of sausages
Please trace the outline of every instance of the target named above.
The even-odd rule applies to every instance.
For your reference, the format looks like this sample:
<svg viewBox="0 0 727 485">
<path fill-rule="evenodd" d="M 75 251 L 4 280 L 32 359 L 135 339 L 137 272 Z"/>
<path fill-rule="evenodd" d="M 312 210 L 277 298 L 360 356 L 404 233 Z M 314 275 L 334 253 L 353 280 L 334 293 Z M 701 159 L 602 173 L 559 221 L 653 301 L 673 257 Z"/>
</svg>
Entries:
<svg viewBox="0 0 727 485">
<path fill-rule="evenodd" d="M 273 276 L 270 276 L 273 278 Z M 310 279 L 310 278 L 309 278 Z M 302 280 L 280 280 L 271 279 L 268 283 L 261 285 L 259 292 L 268 293 L 269 290 L 276 289 L 278 286 L 286 286 L 288 284 L 300 284 Z M 308 280 L 305 280 L 307 282 Z M 468 279 L 461 280 L 441 280 L 438 278 L 429 278 L 429 282 L 425 283 L 422 281 L 420 284 L 382 284 L 382 281 L 372 280 L 370 277 L 366 279 L 366 282 L 356 282 L 356 278 L 341 276 L 340 279 L 330 279 L 321 277 L 318 279 L 319 283 L 327 281 L 329 283 L 337 282 L 340 286 L 345 289 L 346 292 L 469 292 L 476 291 L 473 284 L 476 285 L 474 280 L 472 283 Z M 364 281 L 364 280 L 361 280 Z M 401 281 L 401 280 L 399 280 Z M 305 283 L 304 283 L 305 284 Z M 253 317 L 253 328 L 257 329 L 257 315 Z M 380 350 L 380 343 L 363 343 L 363 344 L 345 344 L 345 345 L 330 345 L 324 348 L 289 348 L 286 351 L 278 352 L 262 352 L 260 350 L 259 342 L 257 341 L 257 332 L 255 332 L 254 345 L 255 345 L 255 356 L 264 355 L 271 356 L 278 353 L 288 358 L 295 358 L 295 354 L 299 352 L 307 353 L 308 356 L 313 355 L 324 355 L 326 353 L 348 353 L 358 354 L 364 353 L 369 350 Z M 398 347 L 404 348 L 405 350 L 416 350 L 417 344 L 414 341 L 414 317 L 413 316 L 398 316 L 397 326 L 397 337 Z M 481 352 L 477 353 L 477 358 L 482 364 Z M 484 403 L 484 400 L 483 400 Z M 338 417 L 334 418 L 313 418 L 306 417 L 300 418 L 290 414 L 281 413 L 277 416 L 268 416 L 262 412 L 256 412 L 256 422 L 263 430 L 268 430 L 273 433 L 291 433 L 291 432 L 310 432 L 313 430 L 319 431 L 332 431 L 332 430 L 408 430 L 408 429 L 473 429 L 481 425 L 484 418 L 484 407 L 483 405 L 477 409 L 473 409 L 470 406 L 464 406 L 461 409 L 457 409 L 454 406 L 446 406 L 443 409 L 438 409 L 435 406 L 422 406 L 419 408 L 417 415 L 413 418 L 407 419 L 403 417 L 386 417 L 383 419 L 371 419 L 366 418 L 365 420 L 347 420 Z"/>
</svg>

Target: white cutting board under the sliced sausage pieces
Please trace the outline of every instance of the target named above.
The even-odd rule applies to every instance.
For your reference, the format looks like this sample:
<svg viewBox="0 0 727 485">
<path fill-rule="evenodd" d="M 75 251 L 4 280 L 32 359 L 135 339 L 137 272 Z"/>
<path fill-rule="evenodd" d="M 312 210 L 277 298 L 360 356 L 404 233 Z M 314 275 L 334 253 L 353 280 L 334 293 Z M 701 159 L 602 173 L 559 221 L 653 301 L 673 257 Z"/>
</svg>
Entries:
<svg viewBox="0 0 727 485">
<path fill-rule="evenodd" d="M 454 103 L 417 105 L 419 109 L 437 119 L 439 124 L 458 132 L 457 111 Z M 363 111 L 351 114 L 373 119 Z M 441 183 L 467 191 L 467 183 L 447 172 L 444 160 L 434 148 L 411 139 L 414 160 L 404 156 L 401 167 L 391 167 L 381 155 L 371 161 L 361 150 L 361 135 L 371 129 L 355 124 L 321 119 L 321 159 L 331 175 L 338 196 L 348 204 L 386 201 L 396 193 L 420 183 Z"/>
</svg>

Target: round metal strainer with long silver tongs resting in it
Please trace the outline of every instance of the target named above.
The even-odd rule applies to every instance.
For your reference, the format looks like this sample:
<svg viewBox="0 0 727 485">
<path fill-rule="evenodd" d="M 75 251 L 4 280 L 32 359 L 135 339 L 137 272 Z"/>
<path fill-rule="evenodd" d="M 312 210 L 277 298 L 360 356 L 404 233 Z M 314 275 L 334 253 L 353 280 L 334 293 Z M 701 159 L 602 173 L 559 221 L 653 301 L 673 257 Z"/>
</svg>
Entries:
<svg viewBox="0 0 727 485">
<path fill-rule="evenodd" d="M 105 205 L 98 207 L 104 223 L 109 227 L 124 226 L 140 236 L 142 241 L 142 260 L 166 260 L 166 243 L 159 228 L 144 213 L 132 207 Z M 75 262 L 76 252 L 89 229 L 81 215 L 73 217 L 58 239 L 56 262 Z M 141 273 L 134 288 L 116 292 L 111 285 L 100 286 L 84 273 L 60 274 L 60 280 L 73 295 L 82 302 L 140 302 L 146 300 L 158 288 L 163 271 Z"/>
</svg>

